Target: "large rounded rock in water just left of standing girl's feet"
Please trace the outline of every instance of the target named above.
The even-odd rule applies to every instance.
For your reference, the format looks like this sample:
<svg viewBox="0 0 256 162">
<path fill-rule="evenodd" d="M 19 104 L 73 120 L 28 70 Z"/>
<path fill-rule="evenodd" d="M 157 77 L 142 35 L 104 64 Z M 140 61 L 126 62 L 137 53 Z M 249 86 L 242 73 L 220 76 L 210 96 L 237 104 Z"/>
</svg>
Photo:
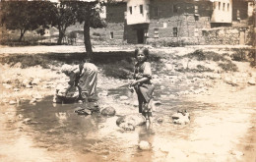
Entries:
<svg viewBox="0 0 256 162">
<path fill-rule="evenodd" d="M 142 114 L 130 114 L 119 117 L 116 125 L 124 130 L 133 131 L 136 126 L 142 126 L 146 123 L 146 119 Z"/>
</svg>

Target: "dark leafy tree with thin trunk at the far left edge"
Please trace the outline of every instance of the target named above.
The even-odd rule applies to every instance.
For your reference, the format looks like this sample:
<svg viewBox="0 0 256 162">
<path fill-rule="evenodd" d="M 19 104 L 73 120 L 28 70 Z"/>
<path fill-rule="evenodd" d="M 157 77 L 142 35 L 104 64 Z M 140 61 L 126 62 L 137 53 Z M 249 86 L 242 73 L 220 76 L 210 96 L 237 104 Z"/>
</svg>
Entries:
<svg viewBox="0 0 256 162">
<path fill-rule="evenodd" d="M 1 24 L 7 29 L 19 29 L 21 41 L 27 30 L 48 28 L 52 9 L 49 1 L 2 1 Z"/>
</svg>

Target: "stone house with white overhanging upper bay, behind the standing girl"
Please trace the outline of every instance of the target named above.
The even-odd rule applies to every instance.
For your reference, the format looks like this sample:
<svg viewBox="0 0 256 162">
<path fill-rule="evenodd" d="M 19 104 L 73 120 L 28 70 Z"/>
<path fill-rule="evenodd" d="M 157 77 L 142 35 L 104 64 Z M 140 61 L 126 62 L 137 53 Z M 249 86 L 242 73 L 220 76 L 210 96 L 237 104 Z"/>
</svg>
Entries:
<svg viewBox="0 0 256 162">
<path fill-rule="evenodd" d="M 212 2 L 194 0 L 128 0 L 127 42 L 164 41 L 199 44 L 211 27 Z"/>
</svg>

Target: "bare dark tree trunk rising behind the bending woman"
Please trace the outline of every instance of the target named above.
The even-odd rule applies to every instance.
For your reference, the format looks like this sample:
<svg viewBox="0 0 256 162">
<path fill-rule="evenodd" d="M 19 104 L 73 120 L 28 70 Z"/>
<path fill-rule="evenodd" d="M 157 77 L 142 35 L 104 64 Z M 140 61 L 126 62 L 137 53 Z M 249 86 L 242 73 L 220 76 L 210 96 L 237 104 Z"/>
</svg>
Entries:
<svg viewBox="0 0 256 162">
<path fill-rule="evenodd" d="M 84 41 L 85 41 L 85 47 L 87 50 L 87 59 L 92 60 L 93 49 L 92 49 L 92 43 L 91 43 L 91 37 L 90 37 L 90 23 L 89 22 L 85 22 L 85 24 L 84 24 Z"/>
</svg>

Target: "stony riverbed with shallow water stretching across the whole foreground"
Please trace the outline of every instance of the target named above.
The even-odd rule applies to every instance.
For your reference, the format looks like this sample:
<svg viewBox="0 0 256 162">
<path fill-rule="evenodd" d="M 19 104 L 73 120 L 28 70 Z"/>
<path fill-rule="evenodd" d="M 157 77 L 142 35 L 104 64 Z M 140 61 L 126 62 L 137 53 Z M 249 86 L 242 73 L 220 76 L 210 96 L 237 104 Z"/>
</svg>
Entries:
<svg viewBox="0 0 256 162">
<path fill-rule="evenodd" d="M 52 95 L 56 85 L 67 80 L 59 73 L 65 61 L 56 57 L 72 58 L 80 47 L 50 47 L 54 49 L 54 57 L 46 58 L 52 56 L 47 47 L 15 48 L 3 47 L 0 51 L 3 126 L 0 160 L 254 162 L 256 159 L 256 69 L 249 62 L 234 61 L 235 49 L 150 49 L 156 85 L 152 134 L 143 126 L 132 132 L 116 126 L 120 116 L 138 112 L 136 95 L 127 88 L 131 79 L 114 75 L 124 72 L 129 76 L 132 59 L 118 60 L 121 64 L 96 61 L 97 104 L 101 109 L 113 107 L 115 116 L 78 116 L 74 110 L 83 105 L 54 105 Z M 98 51 L 104 50 L 101 47 Z M 114 51 L 118 50 L 129 53 L 131 48 Z M 32 58 L 38 61 L 26 67 L 29 63 L 25 60 Z M 77 62 L 73 59 L 70 64 Z M 119 69 L 112 76 L 105 71 L 111 66 L 108 71 Z M 171 116 L 181 109 L 190 114 L 190 122 L 175 125 Z M 146 150 L 138 148 L 141 143 L 147 146 Z"/>
</svg>

